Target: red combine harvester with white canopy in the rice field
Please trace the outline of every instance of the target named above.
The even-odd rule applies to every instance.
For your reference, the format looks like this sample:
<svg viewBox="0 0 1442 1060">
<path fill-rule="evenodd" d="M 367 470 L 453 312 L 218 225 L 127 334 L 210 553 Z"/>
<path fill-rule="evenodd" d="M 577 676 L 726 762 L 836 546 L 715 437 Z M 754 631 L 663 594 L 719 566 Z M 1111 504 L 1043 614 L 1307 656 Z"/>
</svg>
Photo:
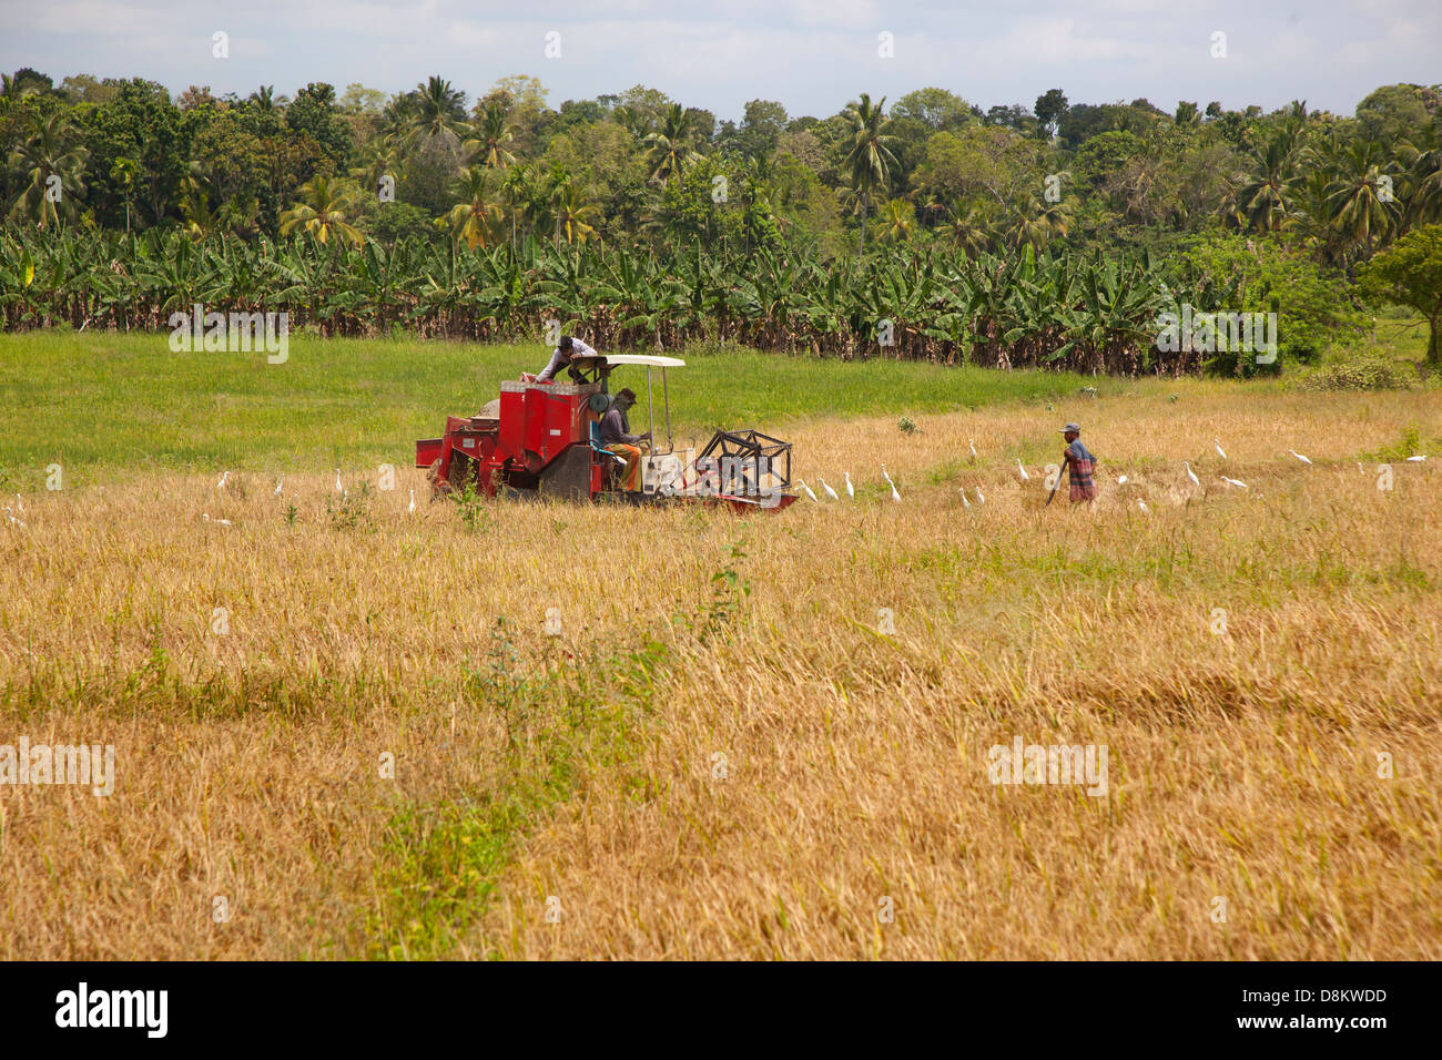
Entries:
<svg viewBox="0 0 1442 1060">
<path fill-rule="evenodd" d="M 642 456 L 639 490 L 623 489 L 624 461 L 600 444 L 598 424 L 611 404 L 610 374 L 646 368 L 652 447 Z M 415 443 L 415 466 L 430 470 L 433 498 L 473 489 L 483 496 L 616 500 L 623 503 L 724 503 L 779 512 L 792 492 L 790 443 L 754 430 L 717 431 L 698 454 L 671 437 L 666 369 L 679 358 L 609 353 L 572 361 L 575 384 L 502 382 L 499 401 L 473 417 L 451 415 L 446 436 Z M 655 444 L 652 369 L 660 369 L 666 446 Z"/>
</svg>

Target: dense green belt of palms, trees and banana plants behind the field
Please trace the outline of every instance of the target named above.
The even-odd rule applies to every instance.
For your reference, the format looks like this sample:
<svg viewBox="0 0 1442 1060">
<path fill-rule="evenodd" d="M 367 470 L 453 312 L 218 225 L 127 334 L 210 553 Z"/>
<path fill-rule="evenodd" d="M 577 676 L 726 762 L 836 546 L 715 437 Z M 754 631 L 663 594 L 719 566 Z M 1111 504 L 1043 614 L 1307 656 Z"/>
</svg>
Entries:
<svg viewBox="0 0 1442 1060">
<path fill-rule="evenodd" d="M 737 123 L 640 85 L 547 95 L 431 76 L 173 100 L 17 71 L 3 323 L 159 329 L 203 301 L 323 333 L 559 319 L 617 345 L 1233 372 L 1250 359 L 1159 353 L 1156 314 L 1273 312 L 1305 359 L 1357 326 L 1368 262 L 1442 221 L 1436 85 L 1351 117 L 921 88 L 828 117 L 754 100 Z"/>
</svg>

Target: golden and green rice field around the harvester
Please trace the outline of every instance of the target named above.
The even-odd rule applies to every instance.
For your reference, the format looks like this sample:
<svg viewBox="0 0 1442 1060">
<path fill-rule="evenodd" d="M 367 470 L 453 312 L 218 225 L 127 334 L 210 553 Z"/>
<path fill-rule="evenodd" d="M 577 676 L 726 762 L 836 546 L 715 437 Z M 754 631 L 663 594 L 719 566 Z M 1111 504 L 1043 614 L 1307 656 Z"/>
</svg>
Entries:
<svg viewBox="0 0 1442 1060">
<path fill-rule="evenodd" d="M 1442 958 L 1435 388 L 698 356 L 822 498 L 735 516 L 428 503 L 534 349 L 138 342 L 0 336 L 0 743 L 115 748 L 0 783 L 0 956 Z"/>
</svg>

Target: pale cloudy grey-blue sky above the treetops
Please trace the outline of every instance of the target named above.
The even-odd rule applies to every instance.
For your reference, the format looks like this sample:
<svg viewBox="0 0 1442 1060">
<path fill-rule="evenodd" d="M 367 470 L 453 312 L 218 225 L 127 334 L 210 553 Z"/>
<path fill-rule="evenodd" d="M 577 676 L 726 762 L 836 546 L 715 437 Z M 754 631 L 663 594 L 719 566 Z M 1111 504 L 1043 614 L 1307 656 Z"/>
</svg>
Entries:
<svg viewBox="0 0 1442 1060">
<path fill-rule="evenodd" d="M 212 35 L 229 35 L 229 58 Z M 1211 58 L 1213 33 L 1226 58 Z M 559 35 L 559 58 L 545 56 Z M 878 55 L 890 33 L 894 58 Z M 554 40 L 554 37 L 552 37 Z M 747 100 L 833 114 L 858 92 L 940 85 L 981 107 L 1061 88 L 1071 102 L 1146 97 L 1268 110 L 1293 98 L 1351 114 L 1397 81 L 1442 81 L 1442 4 L 1259 0 L 1100 3 L 366 3 L 313 0 L 0 0 L 0 68 L 146 76 L 180 91 L 287 95 L 307 81 L 385 92 L 430 74 L 472 98 L 531 74 L 558 107 L 646 84 L 718 118 Z"/>
</svg>

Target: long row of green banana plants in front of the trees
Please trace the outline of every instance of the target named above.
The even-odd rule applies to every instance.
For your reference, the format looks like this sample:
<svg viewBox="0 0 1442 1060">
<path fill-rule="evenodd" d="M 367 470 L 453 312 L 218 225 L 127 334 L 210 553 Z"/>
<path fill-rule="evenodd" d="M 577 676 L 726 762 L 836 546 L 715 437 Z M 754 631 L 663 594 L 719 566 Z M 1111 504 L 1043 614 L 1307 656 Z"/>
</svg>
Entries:
<svg viewBox="0 0 1442 1060">
<path fill-rule="evenodd" d="M 643 252 L 555 244 L 544 231 L 472 249 L 0 226 L 0 326 L 12 329 L 46 320 L 157 329 L 203 301 L 283 309 L 293 323 L 333 335 L 405 322 L 423 335 L 506 340 L 534 337 L 557 319 L 611 348 L 705 335 L 836 356 L 1190 371 L 1198 366 L 1191 355 L 1155 352 L 1155 316 L 1181 299 L 1231 304 L 1227 283 L 1164 277 L 1145 252 L 1083 257 L 1030 242 L 999 254 L 916 242 L 838 267 L 795 247 Z M 890 346 L 878 343 L 883 320 Z"/>
</svg>

